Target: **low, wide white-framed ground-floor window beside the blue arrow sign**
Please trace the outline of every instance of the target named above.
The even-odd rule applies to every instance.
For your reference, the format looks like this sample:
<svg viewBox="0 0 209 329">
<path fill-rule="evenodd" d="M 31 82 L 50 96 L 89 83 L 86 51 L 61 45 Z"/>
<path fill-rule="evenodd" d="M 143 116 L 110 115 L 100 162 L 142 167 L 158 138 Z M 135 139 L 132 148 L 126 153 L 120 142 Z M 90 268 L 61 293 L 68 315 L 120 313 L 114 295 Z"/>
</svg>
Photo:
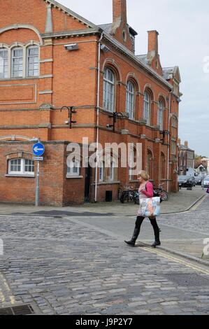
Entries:
<svg viewBox="0 0 209 329">
<path fill-rule="evenodd" d="M 9 160 L 8 174 L 34 176 L 34 161 L 22 158 Z"/>
</svg>

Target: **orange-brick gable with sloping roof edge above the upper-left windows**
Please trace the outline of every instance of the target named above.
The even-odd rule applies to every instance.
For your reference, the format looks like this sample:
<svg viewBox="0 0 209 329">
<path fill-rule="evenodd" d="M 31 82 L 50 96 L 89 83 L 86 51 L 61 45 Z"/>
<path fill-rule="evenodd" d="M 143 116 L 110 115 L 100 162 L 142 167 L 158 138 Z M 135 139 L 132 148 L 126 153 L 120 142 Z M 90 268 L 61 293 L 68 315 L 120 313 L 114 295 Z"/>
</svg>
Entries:
<svg viewBox="0 0 209 329">
<path fill-rule="evenodd" d="M 80 15 L 52 0 L 1 1 L 0 29 L 13 25 L 31 25 L 45 34 L 50 21 L 52 32 L 97 28 Z"/>
</svg>

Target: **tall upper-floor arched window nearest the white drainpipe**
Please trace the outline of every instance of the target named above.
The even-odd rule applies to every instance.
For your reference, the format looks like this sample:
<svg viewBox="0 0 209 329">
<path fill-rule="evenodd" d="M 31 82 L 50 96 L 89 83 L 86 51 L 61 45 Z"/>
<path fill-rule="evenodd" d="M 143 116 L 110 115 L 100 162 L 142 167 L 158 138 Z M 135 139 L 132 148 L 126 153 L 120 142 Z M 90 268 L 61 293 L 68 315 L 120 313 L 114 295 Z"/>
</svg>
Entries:
<svg viewBox="0 0 209 329">
<path fill-rule="evenodd" d="M 115 111 L 115 74 L 111 69 L 105 69 L 103 76 L 103 109 Z"/>
</svg>

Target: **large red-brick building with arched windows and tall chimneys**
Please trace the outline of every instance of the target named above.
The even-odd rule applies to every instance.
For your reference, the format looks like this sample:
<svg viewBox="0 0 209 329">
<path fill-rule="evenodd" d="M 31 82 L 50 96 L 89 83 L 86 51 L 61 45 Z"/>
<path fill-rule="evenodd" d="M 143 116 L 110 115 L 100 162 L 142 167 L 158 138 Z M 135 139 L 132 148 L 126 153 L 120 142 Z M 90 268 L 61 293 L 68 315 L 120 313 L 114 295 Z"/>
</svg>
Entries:
<svg viewBox="0 0 209 329">
<path fill-rule="evenodd" d="M 115 200 L 120 187 L 137 185 L 129 167 L 92 169 L 75 161 L 68 168 L 67 145 L 82 137 L 103 147 L 142 143 L 143 169 L 155 184 L 178 190 L 180 72 L 162 69 L 157 31 L 148 31 L 146 55 L 135 55 L 136 35 L 126 0 L 113 0 L 113 24 L 102 26 L 57 1 L 2 1 L 1 202 L 34 202 L 34 137 L 45 145 L 41 204 L 101 201 L 107 190 Z M 72 129 L 63 106 L 75 107 Z M 114 132 L 113 113 L 123 113 Z"/>
</svg>

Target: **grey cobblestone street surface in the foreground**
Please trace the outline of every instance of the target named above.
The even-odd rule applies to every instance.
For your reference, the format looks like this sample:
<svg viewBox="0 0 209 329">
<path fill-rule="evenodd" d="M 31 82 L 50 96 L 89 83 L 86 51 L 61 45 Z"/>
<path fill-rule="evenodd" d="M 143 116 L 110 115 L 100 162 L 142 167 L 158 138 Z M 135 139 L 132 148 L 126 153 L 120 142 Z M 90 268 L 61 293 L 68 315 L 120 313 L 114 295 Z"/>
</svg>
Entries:
<svg viewBox="0 0 209 329">
<path fill-rule="evenodd" d="M 208 269 L 129 248 L 114 232 L 73 218 L 1 216 L 0 228 L 1 307 L 35 302 L 43 314 L 208 314 Z"/>
</svg>

